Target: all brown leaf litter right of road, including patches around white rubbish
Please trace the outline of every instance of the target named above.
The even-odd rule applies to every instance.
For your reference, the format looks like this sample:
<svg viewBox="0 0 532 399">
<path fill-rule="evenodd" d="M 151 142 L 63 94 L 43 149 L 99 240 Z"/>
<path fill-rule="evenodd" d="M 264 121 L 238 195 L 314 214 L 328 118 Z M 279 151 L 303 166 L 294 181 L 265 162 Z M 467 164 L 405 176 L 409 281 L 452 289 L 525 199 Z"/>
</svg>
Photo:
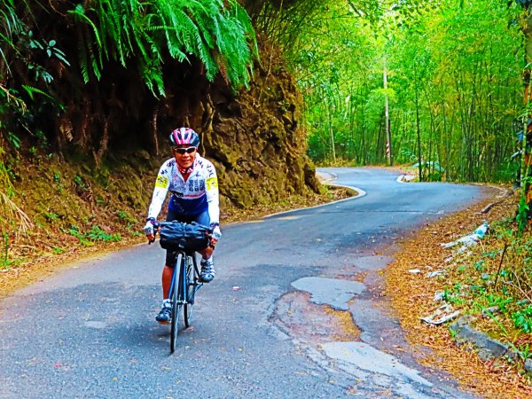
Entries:
<svg viewBox="0 0 532 399">
<path fill-rule="evenodd" d="M 495 205 L 494 195 L 494 192 L 489 191 L 490 197 L 486 200 L 456 214 L 442 216 L 434 223 L 426 223 L 415 237 L 404 239 L 400 251 L 394 255 L 395 260 L 387 266 L 386 293 L 407 340 L 414 348 L 419 348 L 420 352 L 426 354 L 421 358 L 420 364 L 449 372 L 458 380 L 462 389 L 482 397 L 525 398 L 532 395 L 532 387 L 529 377 L 523 374 L 519 364 L 511 364 L 502 359 L 484 361 L 472 345 L 458 347 L 453 333 L 444 322 L 432 325 L 421 321 L 426 315 L 433 315 L 435 310 L 447 306 L 442 305 L 441 301 L 453 287 L 466 288 L 465 282 L 471 280 L 473 273 L 465 265 L 475 264 L 481 253 L 492 250 L 493 246 L 500 246 L 496 237 L 489 236 L 485 243 L 475 240 L 480 245 L 471 251 L 465 251 L 463 246 L 460 246 L 459 251 L 452 246 L 442 246 L 449 242 L 472 244 L 473 239 L 478 238 L 469 237 L 470 239 L 461 241 L 458 238 L 475 230 L 479 224 L 497 222 L 515 214 L 518 204 L 516 194 L 497 200 Z M 482 213 L 483 209 L 489 209 L 489 212 Z M 468 249 L 471 249 L 469 245 Z M 409 270 L 413 268 L 422 272 L 412 274 Z M 439 273 L 431 274 L 434 270 Z M 460 313 L 479 313 L 473 307 L 473 302 L 461 298 L 459 293 L 453 307 L 453 311 Z M 497 336 L 497 330 L 485 317 L 479 317 L 478 320 L 474 325 L 475 329 L 488 332 L 495 339 L 505 338 L 501 336 L 501 332 Z M 504 323 L 507 327 L 505 331 L 509 331 L 508 321 Z M 530 334 L 514 334 L 513 338 L 519 337 L 516 342 L 527 341 L 532 346 Z"/>
</svg>

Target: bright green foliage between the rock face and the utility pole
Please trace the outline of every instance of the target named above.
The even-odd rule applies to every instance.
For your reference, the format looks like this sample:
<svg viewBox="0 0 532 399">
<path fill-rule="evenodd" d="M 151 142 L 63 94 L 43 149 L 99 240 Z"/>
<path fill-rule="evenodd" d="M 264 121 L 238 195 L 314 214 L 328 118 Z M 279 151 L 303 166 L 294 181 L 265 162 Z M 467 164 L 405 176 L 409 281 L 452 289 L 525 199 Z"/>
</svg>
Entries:
<svg viewBox="0 0 532 399">
<path fill-rule="evenodd" d="M 372 140 L 384 132 L 382 41 L 346 9 L 344 2 L 316 4 L 319 18 L 299 26 L 301 46 L 289 59 L 307 105 L 309 154 L 325 163 L 379 162 L 385 153 L 372 151 Z"/>
</svg>

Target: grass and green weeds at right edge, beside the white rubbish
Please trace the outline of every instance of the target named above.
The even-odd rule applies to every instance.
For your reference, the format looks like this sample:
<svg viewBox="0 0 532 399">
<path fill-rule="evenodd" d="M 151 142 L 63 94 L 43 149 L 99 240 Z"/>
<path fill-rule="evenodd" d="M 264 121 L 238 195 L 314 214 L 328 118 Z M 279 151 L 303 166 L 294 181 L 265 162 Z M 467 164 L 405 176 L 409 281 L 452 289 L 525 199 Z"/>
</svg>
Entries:
<svg viewBox="0 0 532 399">
<path fill-rule="evenodd" d="M 489 242 L 475 247 L 477 251 L 458 267 L 452 265 L 456 274 L 443 296 L 445 301 L 469 308 L 469 313 L 489 317 L 497 325 L 490 332 L 515 343 L 522 342 L 521 334 L 532 332 L 532 238 L 511 227 L 505 222 L 490 226 Z M 502 250 L 501 241 L 505 243 Z"/>
</svg>

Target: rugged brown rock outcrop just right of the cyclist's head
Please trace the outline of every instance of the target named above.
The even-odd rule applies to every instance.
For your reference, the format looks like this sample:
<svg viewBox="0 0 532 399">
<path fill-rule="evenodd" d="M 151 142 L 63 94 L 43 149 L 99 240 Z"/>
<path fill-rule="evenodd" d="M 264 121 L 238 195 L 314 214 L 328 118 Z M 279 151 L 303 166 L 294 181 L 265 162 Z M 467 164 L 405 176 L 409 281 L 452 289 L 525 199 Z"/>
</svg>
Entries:
<svg viewBox="0 0 532 399">
<path fill-rule="evenodd" d="M 258 68 L 237 98 L 213 85 L 203 106 L 214 110 L 200 132 L 206 156 L 217 167 L 220 191 L 239 207 L 319 192 L 300 127 L 301 96 L 284 66 L 274 63 L 270 71 Z"/>
</svg>

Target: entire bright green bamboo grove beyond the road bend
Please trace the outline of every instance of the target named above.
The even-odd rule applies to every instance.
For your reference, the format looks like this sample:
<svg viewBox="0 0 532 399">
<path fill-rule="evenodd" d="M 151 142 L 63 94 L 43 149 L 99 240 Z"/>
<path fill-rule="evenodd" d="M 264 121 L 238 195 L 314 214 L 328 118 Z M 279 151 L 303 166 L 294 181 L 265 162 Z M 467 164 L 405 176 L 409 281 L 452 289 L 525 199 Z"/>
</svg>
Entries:
<svg viewBox="0 0 532 399">
<path fill-rule="evenodd" d="M 395 163 L 417 162 L 430 180 L 516 178 L 525 66 L 520 4 L 445 0 L 406 14 L 405 6 L 379 2 L 379 18 L 369 19 L 349 3 L 324 8 L 304 47 L 291 53 L 314 160 L 386 162 L 387 99 Z"/>
</svg>

